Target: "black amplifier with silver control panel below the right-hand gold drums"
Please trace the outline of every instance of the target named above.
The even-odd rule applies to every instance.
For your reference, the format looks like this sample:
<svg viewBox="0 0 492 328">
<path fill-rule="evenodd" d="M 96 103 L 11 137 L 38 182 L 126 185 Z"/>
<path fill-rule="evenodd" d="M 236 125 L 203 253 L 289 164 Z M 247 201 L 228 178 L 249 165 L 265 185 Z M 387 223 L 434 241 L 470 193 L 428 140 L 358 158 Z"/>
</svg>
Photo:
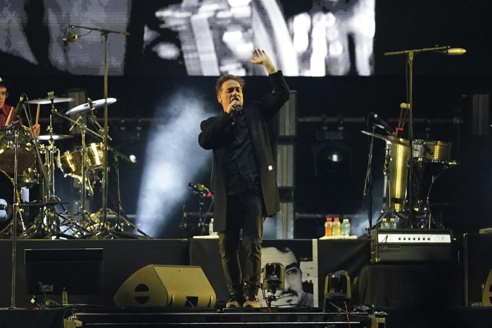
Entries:
<svg viewBox="0 0 492 328">
<path fill-rule="evenodd" d="M 371 231 L 371 263 L 449 262 L 449 230 L 375 229 Z"/>
</svg>

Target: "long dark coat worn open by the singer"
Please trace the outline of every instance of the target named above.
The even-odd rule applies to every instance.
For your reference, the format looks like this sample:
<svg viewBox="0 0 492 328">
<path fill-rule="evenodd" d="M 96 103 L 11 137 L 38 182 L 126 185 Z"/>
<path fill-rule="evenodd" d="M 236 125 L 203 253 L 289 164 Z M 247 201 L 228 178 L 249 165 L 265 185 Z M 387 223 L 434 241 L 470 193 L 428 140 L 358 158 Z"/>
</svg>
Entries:
<svg viewBox="0 0 492 328">
<path fill-rule="evenodd" d="M 272 216 L 280 211 L 277 174 L 273 161 L 267 121 L 289 100 L 289 86 L 282 71 L 271 74 L 273 92 L 264 95 L 261 101 L 253 101 L 244 108 L 248 121 L 256 168 L 260 176 L 263 193 L 263 215 Z M 227 191 L 226 167 L 226 129 L 231 125 L 231 116 L 222 111 L 218 116 L 210 117 L 200 124 L 201 132 L 198 144 L 203 149 L 213 150 L 212 190 L 214 191 L 214 231 L 226 230 Z"/>
</svg>

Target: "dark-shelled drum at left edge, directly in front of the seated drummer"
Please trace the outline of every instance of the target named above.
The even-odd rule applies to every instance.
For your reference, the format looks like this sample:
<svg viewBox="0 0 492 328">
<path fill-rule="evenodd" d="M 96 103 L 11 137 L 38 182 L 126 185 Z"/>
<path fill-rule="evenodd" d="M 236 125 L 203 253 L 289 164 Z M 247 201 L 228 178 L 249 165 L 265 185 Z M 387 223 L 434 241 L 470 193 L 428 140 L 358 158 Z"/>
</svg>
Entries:
<svg viewBox="0 0 492 328">
<path fill-rule="evenodd" d="M 27 170 L 34 163 L 34 144 L 31 132 L 24 126 L 11 124 L 0 129 L 0 170 L 14 173 L 15 131 L 17 137 L 17 172 Z"/>
</svg>

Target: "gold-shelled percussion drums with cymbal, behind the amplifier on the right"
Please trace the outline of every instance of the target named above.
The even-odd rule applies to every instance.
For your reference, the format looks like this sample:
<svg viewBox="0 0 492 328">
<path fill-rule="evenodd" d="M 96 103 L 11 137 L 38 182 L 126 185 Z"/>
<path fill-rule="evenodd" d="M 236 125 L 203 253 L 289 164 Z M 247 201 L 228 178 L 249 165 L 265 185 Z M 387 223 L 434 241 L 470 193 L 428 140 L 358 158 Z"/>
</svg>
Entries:
<svg viewBox="0 0 492 328">
<path fill-rule="evenodd" d="M 420 222 L 414 228 L 443 228 L 442 222 L 433 217 L 430 191 L 438 176 L 458 164 L 451 160 L 450 142 L 414 139 L 412 142 L 413 174 L 410 180 L 410 147 L 406 139 L 393 135 L 381 135 L 361 131 L 363 134 L 386 142 L 383 168 L 383 205 L 378 223 L 382 218 L 395 218 L 405 226 L 408 214 L 414 211 Z M 412 187 L 409 188 L 410 183 Z M 409 197 L 412 192 L 413 197 Z M 412 203 L 409 200 L 412 199 Z M 377 223 L 377 224 L 378 224 Z"/>
</svg>

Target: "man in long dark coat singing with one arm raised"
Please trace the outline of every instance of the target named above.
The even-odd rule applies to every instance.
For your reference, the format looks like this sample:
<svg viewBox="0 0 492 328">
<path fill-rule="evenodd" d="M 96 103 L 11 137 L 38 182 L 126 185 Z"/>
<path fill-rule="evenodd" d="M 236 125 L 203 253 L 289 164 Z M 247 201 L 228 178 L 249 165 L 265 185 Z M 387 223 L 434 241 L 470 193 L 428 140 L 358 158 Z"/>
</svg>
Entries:
<svg viewBox="0 0 492 328">
<path fill-rule="evenodd" d="M 273 92 L 243 106 L 243 80 L 224 74 L 217 81 L 222 112 L 201 122 L 198 142 L 213 151 L 214 231 L 231 293 L 226 306 L 259 308 L 263 220 L 280 210 L 267 121 L 289 99 L 289 87 L 263 50 L 253 64 L 269 73 Z M 239 262 L 239 235 L 242 229 Z"/>
</svg>

